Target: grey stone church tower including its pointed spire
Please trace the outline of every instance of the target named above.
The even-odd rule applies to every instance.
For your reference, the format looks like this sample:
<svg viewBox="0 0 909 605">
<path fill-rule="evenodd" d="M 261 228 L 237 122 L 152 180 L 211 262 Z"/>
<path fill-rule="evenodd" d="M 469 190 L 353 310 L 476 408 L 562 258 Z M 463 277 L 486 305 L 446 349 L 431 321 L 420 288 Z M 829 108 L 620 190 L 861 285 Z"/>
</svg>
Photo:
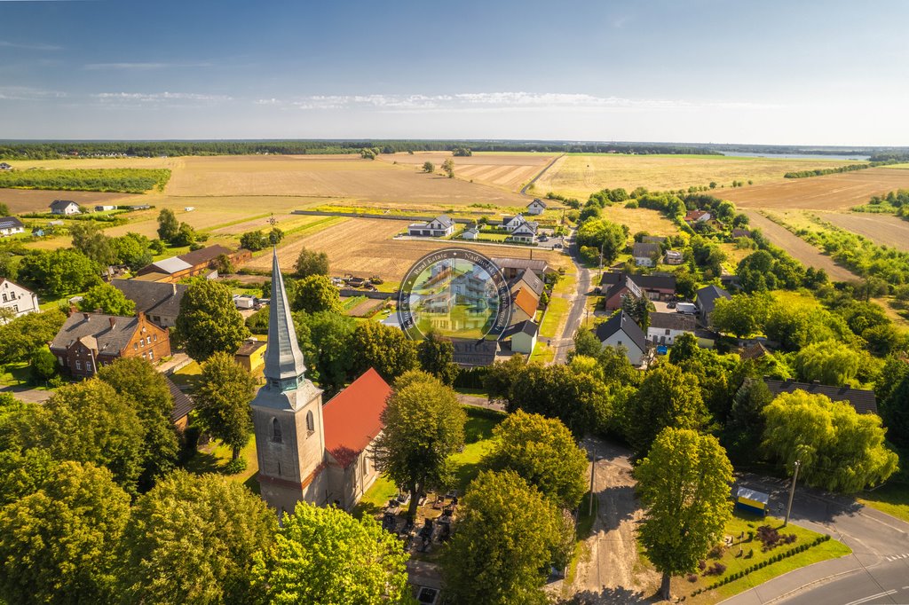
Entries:
<svg viewBox="0 0 909 605">
<path fill-rule="evenodd" d="M 305 378 L 277 252 L 272 261 L 265 385 L 252 402 L 262 498 L 278 514 L 301 500 L 325 505 L 322 391 Z"/>
</svg>

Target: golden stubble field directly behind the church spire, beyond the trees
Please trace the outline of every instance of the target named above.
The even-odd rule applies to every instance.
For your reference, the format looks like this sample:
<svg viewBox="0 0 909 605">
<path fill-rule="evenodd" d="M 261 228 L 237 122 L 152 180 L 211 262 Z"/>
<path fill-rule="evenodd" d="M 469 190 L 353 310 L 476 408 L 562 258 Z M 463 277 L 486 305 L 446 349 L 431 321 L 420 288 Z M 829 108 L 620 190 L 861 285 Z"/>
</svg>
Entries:
<svg viewBox="0 0 909 605">
<path fill-rule="evenodd" d="M 523 246 L 392 239 L 406 226 L 406 221 L 347 219 L 344 223 L 335 224 L 279 248 L 281 268 L 291 271 L 302 248 L 327 253 L 332 274 L 352 273 L 363 277 L 379 275 L 392 282 L 400 281 L 407 269 L 421 256 L 448 246 L 473 248 L 487 256 L 530 258 L 533 254 L 534 258 L 545 259 L 554 266 L 570 264 L 568 258 L 561 253 Z M 271 268 L 271 258 L 267 255 L 259 256 L 245 266 L 267 271 Z"/>
</svg>

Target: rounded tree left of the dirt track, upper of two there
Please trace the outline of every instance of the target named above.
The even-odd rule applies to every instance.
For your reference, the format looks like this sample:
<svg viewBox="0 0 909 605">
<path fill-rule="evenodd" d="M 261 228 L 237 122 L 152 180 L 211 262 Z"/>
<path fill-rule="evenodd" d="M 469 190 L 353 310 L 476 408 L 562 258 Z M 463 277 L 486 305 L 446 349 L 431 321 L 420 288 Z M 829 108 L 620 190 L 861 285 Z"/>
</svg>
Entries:
<svg viewBox="0 0 909 605">
<path fill-rule="evenodd" d="M 587 455 L 561 421 L 518 410 L 493 429 L 493 437 L 487 468 L 516 472 L 560 508 L 578 505 L 587 491 Z"/>
</svg>

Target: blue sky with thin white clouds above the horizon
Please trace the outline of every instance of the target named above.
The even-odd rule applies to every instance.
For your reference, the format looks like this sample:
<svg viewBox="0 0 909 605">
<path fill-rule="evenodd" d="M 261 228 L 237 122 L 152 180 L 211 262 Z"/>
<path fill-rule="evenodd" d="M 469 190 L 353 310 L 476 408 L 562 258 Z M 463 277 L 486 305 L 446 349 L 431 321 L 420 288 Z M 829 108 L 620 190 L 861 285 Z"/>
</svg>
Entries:
<svg viewBox="0 0 909 605">
<path fill-rule="evenodd" d="M 0 139 L 909 145 L 909 2 L 0 0 Z"/>
</svg>

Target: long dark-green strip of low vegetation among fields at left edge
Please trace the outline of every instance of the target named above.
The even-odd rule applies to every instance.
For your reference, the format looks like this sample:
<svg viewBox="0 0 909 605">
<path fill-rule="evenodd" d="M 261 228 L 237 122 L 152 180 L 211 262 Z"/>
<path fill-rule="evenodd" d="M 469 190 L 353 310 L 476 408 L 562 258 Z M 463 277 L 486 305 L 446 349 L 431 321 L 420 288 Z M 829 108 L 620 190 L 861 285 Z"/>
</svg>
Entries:
<svg viewBox="0 0 909 605">
<path fill-rule="evenodd" d="M 32 169 L 0 172 L 0 187 L 9 189 L 51 189 L 61 191 L 99 191 L 144 193 L 155 187 L 160 191 L 170 179 L 166 169 Z"/>
</svg>

